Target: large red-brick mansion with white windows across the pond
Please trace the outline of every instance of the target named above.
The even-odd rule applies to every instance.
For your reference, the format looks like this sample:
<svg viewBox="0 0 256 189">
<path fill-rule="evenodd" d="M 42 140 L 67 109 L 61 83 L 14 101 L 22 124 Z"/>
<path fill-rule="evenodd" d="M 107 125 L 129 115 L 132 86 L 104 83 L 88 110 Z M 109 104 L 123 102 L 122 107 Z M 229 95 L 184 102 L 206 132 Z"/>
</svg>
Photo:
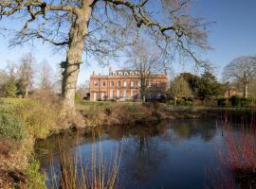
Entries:
<svg viewBox="0 0 256 189">
<path fill-rule="evenodd" d="M 167 75 L 154 75 L 149 79 L 149 92 L 146 98 L 159 98 L 166 91 Z M 134 70 L 118 70 L 108 76 L 90 77 L 90 100 L 103 99 L 135 99 L 140 98 L 139 72 Z"/>
</svg>

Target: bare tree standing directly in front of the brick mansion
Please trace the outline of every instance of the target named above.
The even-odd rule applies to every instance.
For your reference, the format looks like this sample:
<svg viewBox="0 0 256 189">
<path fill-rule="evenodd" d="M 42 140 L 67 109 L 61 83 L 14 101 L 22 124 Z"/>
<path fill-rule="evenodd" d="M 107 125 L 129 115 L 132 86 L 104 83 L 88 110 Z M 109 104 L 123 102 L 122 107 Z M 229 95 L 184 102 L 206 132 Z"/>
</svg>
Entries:
<svg viewBox="0 0 256 189">
<path fill-rule="evenodd" d="M 161 61 L 161 53 L 154 43 L 149 43 L 145 38 L 142 38 L 127 50 L 127 56 L 126 68 L 134 69 L 139 73 L 140 98 L 145 102 L 146 92 L 151 87 L 152 77 L 165 71 L 164 63 Z"/>
</svg>

